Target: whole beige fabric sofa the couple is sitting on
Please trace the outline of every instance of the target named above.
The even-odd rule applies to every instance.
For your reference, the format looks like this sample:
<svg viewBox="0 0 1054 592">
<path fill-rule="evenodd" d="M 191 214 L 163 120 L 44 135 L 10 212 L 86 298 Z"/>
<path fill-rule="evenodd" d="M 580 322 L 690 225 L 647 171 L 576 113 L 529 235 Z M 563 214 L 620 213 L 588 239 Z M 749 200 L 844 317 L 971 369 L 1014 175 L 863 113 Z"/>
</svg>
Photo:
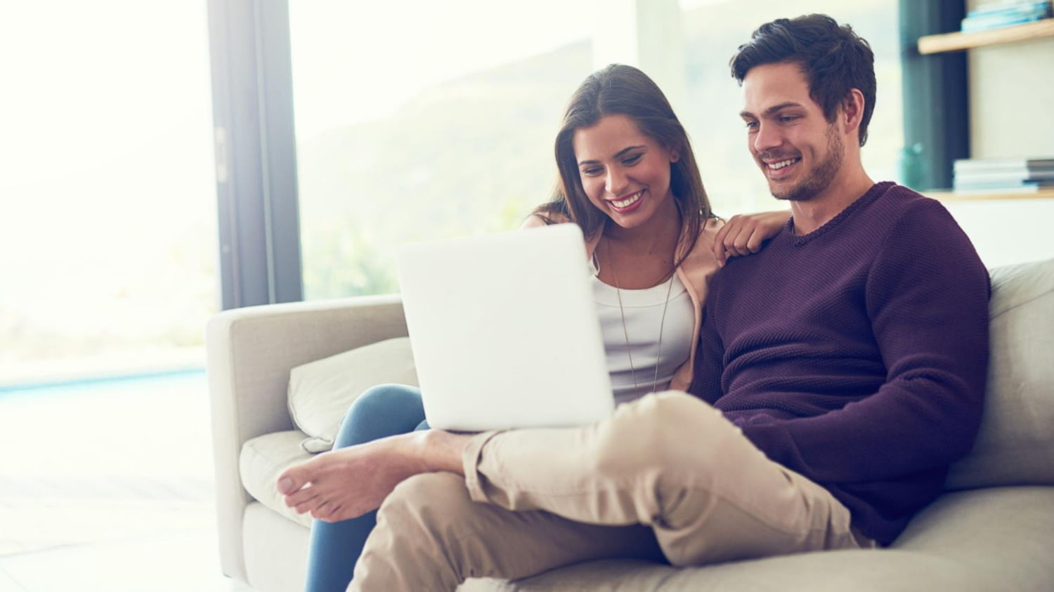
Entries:
<svg viewBox="0 0 1054 592">
<path fill-rule="evenodd" d="M 461 589 L 1054 590 L 1054 260 L 999 268 L 992 279 L 989 397 L 977 445 L 953 467 L 946 493 L 891 548 L 695 569 L 597 561 Z M 405 335 L 393 296 L 247 308 L 210 321 L 225 574 L 262 592 L 302 586 L 309 522 L 273 487 L 284 468 L 310 456 L 287 401 L 291 369 Z"/>
</svg>

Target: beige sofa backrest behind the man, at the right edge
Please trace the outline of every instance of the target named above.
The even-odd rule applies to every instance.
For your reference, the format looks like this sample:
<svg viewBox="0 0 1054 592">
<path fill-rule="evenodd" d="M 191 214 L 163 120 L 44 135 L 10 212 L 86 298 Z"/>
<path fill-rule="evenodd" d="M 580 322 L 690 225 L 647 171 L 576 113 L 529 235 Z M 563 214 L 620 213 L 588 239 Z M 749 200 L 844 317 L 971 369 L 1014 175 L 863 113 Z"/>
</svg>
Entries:
<svg viewBox="0 0 1054 592">
<path fill-rule="evenodd" d="M 1054 485 L 1054 259 L 991 270 L 980 433 L 946 489 Z"/>
</svg>

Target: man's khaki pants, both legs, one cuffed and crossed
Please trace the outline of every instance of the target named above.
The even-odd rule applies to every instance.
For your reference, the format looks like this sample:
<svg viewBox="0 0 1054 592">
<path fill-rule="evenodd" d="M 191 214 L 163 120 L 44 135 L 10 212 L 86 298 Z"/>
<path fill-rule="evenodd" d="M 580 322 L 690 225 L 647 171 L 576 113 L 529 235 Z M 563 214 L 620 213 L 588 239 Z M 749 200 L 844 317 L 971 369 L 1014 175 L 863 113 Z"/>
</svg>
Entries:
<svg viewBox="0 0 1054 592">
<path fill-rule="evenodd" d="M 675 566 L 855 549 L 850 512 L 678 392 L 597 426 L 487 432 L 466 477 L 417 475 L 380 507 L 349 590 L 454 590 L 607 557 Z"/>
</svg>

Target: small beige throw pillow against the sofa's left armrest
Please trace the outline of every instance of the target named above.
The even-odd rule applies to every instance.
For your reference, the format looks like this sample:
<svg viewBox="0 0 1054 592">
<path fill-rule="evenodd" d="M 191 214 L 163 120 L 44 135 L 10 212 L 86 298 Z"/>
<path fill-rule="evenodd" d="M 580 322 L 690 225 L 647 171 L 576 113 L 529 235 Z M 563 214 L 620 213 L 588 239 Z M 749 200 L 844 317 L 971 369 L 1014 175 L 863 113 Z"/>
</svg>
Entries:
<svg viewBox="0 0 1054 592">
<path fill-rule="evenodd" d="M 333 448 L 340 420 L 352 401 L 383 383 L 417 386 L 409 337 L 355 348 L 293 368 L 289 373 L 289 414 L 308 438 L 307 452 Z"/>
</svg>

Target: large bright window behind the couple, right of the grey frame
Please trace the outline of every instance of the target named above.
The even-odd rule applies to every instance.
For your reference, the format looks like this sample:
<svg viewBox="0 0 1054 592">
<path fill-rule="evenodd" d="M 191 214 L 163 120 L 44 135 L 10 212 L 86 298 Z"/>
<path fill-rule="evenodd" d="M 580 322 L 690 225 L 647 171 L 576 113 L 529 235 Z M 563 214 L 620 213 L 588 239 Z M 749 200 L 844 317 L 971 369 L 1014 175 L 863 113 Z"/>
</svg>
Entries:
<svg viewBox="0 0 1054 592">
<path fill-rule="evenodd" d="M 243 7 L 235 0 L 212 4 Z M 719 214 L 781 206 L 747 155 L 740 90 L 728 75 L 735 48 L 780 16 L 828 13 L 871 41 L 879 78 L 872 129 L 881 133 L 870 139 L 863 158 L 874 178 L 897 178 L 900 62 L 897 5 L 889 0 L 316 0 L 289 2 L 288 12 L 275 6 L 214 14 L 220 15 L 216 22 L 226 18 L 230 33 L 217 39 L 235 42 L 233 56 L 257 54 L 257 61 L 225 71 L 237 83 L 219 96 L 255 87 L 251 108 L 258 112 L 247 122 L 295 120 L 288 132 L 278 124 L 258 141 L 237 130 L 231 135 L 247 144 L 242 150 L 266 153 L 266 166 L 246 169 L 265 191 L 242 184 L 231 197 L 232 203 L 261 204 L 255 218 L 247 218 L 249 226 L 262 229 L 251 229 L 250 236 L 261 246 L 242 249 L 239 260 L 253 264 L 241 268 L 272 291 L 290 283 L 293 272 L 297 281 L 287 298 L 300 297 L 301 267 L 307 298 L 393 292 L 395 245 L 515 228 L 550 195 L 552 139 L 570 93 L 611 61 L 639 65 L 670 96 Z M 288 45 L 270 44 L 287 34 Z M 290 70 L 292 82 L 286 82 L 282 73 Z M 292 106 L 284 97 L 270 101 L 290 87 Z M 284 152 L 293 143 L 295 171 L 293 151 Z M 254 161 L 254 154 L 248 156 Z M 289 169 L 278 171 L 282 166 Z M 268 194 L 274 173 L 295 177 L 298 186 L 275 185 Z M 292 220 L 291 212 L 298 226 L 284 222 Z M 282 223 L 289 228 L 274 230 Z M 295 234 L 298 249 L 268 238 Z M 260 249 L 266 254 L 255 253 Z M 282 301 L 255 290 L 242 300 Z"/>
</svg>

